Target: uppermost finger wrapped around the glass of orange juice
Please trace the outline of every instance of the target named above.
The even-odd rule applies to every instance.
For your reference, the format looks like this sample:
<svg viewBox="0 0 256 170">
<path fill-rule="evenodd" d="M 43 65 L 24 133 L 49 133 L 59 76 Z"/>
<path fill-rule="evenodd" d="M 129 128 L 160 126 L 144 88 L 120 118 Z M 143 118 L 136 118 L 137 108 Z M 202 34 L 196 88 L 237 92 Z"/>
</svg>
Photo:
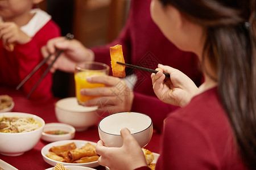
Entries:
<svg viewBox="0 0 256 170">
<path fill-rule="evenodd" d="M 121 79 L 108 75 L 92 75 L 88 76 L 86 80 L 89 83 L 101 83 L 106 86 L 115 86 L 117 83 L 122 82 Z"/>
</svg>

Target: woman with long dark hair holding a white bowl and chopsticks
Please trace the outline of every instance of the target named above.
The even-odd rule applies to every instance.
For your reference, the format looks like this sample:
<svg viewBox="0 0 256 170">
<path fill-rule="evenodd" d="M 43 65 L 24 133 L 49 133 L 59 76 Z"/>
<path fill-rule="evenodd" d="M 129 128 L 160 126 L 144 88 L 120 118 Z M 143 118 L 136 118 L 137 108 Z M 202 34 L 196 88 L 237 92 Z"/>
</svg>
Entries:
<svg viewBox="0 0 256 170">
<path fill-rule="evenodd" d="M 205 78 L 197 89 L 170 66 L 151 75 L 160 100 L 183 106 L 164 120 L 156 170 L 256 169 L 255 7 L 249 0 L 152 0 L 154 22 L 178 48 L 197 54 Z M 149 169 L 130 131 L 121 135 L 122 147 L 98 141 L 98 163 Z"/>
</svg>

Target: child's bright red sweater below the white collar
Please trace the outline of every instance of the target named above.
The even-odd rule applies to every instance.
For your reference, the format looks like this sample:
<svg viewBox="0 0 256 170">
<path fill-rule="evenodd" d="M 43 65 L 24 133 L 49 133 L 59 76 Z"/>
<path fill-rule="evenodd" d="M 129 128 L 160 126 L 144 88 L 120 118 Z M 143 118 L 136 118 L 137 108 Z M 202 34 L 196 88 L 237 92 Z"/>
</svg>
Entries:
<svg viewBox="0 0 256 170">
<path fill-rule="evenodd" d="M 18 84 L 43 60 L 41 48 L 49 39 L 60 36 L 59 27 L 52 21 L 44 25 L 30 42 L 15 44 L 14 51 L 9 52 L 3 48 L 0 41 L 0 86 L 15 88 Z M 28 81 L 22 86 L 24 95 L 27 95 L 38 82 L 40 76 L 47 69 L 45 63 Z M 52 74 L 48 73 L 34 93 L 31 99 L 52 97 Z"/>
</svg>

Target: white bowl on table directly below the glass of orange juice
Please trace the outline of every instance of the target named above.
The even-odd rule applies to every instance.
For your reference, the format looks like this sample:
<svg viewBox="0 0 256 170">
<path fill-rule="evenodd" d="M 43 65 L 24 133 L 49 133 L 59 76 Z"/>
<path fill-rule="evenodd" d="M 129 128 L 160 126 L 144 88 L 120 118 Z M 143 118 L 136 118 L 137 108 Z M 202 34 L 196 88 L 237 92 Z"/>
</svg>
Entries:
<svg viewBox="0 0 256 170">
<path fill-rule="evenodd" d="M 55 114 L 59 122 L 73 126 L 76 131 L 83 131 L 97 125 L 99 116 L 96 109 L 79 105 L 76 97 L 68 97 L 57 101 Z"/>
</svg>

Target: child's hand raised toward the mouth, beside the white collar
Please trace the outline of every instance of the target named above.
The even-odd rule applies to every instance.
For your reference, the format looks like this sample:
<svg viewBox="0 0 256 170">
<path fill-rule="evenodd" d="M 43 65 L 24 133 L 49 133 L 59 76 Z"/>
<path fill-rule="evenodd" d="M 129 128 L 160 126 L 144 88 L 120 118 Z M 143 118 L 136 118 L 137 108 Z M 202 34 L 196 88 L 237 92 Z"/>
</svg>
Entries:
<svg viewBox="0 0 256 170">
<path fill-rule="evenodd" d="M 21 31 L 15 23 L 5 22 L 0 25 L 0 39 L 3 44 L 26 44 L 31 40 L 31 37 Z"/>
</svg>

